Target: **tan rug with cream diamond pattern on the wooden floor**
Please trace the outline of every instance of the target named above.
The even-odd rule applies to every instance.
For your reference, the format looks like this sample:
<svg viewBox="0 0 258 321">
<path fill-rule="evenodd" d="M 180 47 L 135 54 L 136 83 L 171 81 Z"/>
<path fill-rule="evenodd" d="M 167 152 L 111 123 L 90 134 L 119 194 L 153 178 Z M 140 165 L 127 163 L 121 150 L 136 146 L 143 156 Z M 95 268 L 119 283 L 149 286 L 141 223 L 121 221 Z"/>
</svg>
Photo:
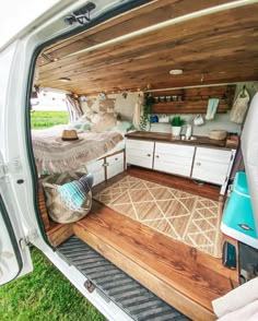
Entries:
<svg viewBox="0 0 258 321">
<path fill-rule="evenodd" d="M 222 257 L 222 203 L 126 176 L 94 199 L 173 239 Z"/>
</svg>

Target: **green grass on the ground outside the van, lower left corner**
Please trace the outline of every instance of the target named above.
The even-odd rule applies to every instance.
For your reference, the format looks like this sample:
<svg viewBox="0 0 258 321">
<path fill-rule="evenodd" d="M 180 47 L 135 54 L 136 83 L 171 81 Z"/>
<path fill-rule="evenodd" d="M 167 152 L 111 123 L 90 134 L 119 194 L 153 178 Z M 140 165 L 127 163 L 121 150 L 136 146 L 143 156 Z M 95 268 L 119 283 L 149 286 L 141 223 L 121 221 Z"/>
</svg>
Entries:
<svg viewBox="0 0 258 321">
<path fill-rule="evenodd" d="M 32 274 L 0 287 L 1 321 L 105 320 L 37 249 L 32 257 Z"/>
</svg>

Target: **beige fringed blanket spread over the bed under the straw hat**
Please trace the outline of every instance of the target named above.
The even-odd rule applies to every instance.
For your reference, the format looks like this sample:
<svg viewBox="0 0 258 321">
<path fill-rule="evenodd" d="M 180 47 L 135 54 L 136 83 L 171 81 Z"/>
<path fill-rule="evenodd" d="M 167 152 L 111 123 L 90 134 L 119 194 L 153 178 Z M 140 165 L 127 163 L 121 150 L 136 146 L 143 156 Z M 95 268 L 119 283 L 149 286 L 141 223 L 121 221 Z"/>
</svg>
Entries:
<svg viewBox="0 0 258 321">
<path fill-rule="evenodd" d="M 81 168 L 114 148 L 122 135 L 118 132 L 80 133 L 77 141 L 62 141 L 62 128 L 33 130 L 33 152 L 38 173 L 64 173 Z"/>
</svg>

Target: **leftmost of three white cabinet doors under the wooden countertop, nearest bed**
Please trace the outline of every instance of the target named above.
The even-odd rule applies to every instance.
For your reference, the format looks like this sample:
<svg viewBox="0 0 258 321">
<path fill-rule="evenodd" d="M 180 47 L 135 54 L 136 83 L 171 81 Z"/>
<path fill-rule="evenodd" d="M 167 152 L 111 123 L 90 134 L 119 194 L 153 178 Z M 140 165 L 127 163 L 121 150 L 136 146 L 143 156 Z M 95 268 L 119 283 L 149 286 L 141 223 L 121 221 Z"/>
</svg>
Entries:
<svg viewBox="0 0 258 321">
<path fill-rule="evenodd" d="M 128 164 L 152 168 L 154 142 L 141 140 L 126 141 L 126 159 Z"/>
</svg>

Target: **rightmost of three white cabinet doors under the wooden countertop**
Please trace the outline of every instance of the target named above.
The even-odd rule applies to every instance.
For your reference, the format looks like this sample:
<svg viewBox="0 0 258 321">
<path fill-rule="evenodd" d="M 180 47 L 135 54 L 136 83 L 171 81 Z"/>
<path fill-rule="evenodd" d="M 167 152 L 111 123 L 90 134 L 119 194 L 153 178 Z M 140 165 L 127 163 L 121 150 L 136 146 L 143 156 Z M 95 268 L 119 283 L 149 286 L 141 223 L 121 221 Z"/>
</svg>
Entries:
<svg viewBox="0 0 258 321">
<path fill-rule="evenodd" d="M 232 158 L 231 151 L 197 147 L 192 178 L 223 185 Z"/>
</svg>

